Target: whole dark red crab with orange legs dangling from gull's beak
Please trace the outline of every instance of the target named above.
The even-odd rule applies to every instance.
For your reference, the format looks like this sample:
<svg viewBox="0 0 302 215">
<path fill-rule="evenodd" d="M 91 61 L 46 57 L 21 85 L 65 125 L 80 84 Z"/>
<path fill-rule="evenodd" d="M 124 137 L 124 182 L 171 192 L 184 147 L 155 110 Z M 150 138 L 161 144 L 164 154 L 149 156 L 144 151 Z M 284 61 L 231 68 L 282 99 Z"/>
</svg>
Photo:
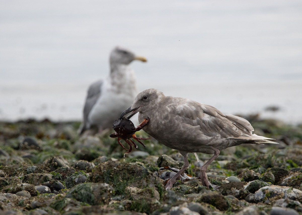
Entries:
<svg viewBox="0 0 302 215">
<path fill-rule="evenodd" d="M 126 117 L 120 117 L 114 120 L 113 122 L 113 129 L 116 131 L 115 133 L 112 133 L 110 137 L 115 138 L 117 137 L 117 142 L 120 144 L 121 147 L 127 150 L 125 154 L 128 154 L 132 151 L 132 146 L 135 148 L 138 148 L 136 143 L 131 139 L 136 139 L 137 142 L 142 144 L 144 147 L 145 145 L 140 140 L 148 140 L 151 138 L 140 138 L 135 135 L 135 132 L 141 130 L 146 124 L 149 122 L 149 117 L 146 118 L 142 123 L 140 123 L 139 126 L 135 127 L 133 122 L 129 120 Z M 130 146 L 129 149 L 125 148 L 123 144 L 121 144 L 120 140 L 123 139 L 128 145 Z"/>
</svg>

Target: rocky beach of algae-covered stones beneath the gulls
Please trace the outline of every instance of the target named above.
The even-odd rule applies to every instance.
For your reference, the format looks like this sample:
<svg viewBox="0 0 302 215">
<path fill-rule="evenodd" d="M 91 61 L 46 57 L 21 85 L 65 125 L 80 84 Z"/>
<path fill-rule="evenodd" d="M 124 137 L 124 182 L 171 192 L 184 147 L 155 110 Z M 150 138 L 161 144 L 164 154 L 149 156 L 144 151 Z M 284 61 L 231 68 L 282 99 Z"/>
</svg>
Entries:
<svg viewBox="0 0 302 215">
<path fill-rule="evenodd" d="M 302 214 L 302 125 L 245 118 L 280 144 L 221 151 L 207 170 L 217 190 L 196 178 L 211 155 L 190 154 L 187 179 L 169 191 L 167 166 L 180 168 L 183 158 L 155 139 L 124 155 L 113 130 L 80 138 L 79 122 L 1 122 L 0 213 Z"/>
</svg>

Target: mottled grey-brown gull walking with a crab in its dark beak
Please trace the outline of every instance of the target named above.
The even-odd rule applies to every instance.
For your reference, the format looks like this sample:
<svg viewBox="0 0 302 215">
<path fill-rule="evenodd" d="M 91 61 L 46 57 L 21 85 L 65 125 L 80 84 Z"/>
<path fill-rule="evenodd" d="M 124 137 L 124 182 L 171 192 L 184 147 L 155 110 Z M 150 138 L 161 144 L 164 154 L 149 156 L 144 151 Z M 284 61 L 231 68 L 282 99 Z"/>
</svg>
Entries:
<svg viewBox="0 0 302 215">
<path fill-rule="evenodd" d="M 196 101 L 173 96 L 165 96 L 156 89 L 140 92 L 130 108 L 122 114 L 139 112 L 139 121 L 149 117 L 143 130 L 162 144 L 177 149 L 185 159 L 181 174 L 188 167 L 188 153 L 202 152 L 214 156 L 201 167 L 203 185 L 209 187 L 205 171 L 219 155 L 220 150 L 242 143 L 275 143 L 252 134 L 251 124 L 237 116 L 225 115 L 216 108 Z M 166 189 L 170 189 L 179 176 L 170 179 Z"/>
</svg>

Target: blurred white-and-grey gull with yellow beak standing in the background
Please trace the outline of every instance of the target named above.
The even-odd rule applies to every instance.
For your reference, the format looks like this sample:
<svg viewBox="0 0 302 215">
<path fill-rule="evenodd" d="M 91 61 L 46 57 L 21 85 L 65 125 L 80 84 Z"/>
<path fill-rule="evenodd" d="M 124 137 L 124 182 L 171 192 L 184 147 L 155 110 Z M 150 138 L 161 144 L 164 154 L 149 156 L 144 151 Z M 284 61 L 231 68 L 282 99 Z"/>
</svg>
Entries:
<svg viewBox="0 0 302 215">
<path fill-rule="evenodd" d="M 132 104 L 138 93 L 134 71 L 129 65 L 133 60 L 147 61 L 126 48 L 116 47 L 111 51 L 109 76 L 89 86 L 79 134 L 93 127 L 99 132 L 112 128 L 113 121 Z"/>
</svg>

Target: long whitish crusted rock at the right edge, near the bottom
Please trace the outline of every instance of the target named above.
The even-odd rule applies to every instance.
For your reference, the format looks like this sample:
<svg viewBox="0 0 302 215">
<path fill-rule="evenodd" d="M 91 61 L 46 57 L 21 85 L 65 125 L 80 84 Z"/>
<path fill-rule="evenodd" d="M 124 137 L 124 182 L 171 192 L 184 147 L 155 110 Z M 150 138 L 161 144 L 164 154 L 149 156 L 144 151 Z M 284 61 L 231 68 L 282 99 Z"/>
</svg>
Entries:
<svg viewBox="0 0 302 215">
<path fill-rule="evenodd" d="M 255 192 L 255 201 L 257 202 L 270 204 L 271 201 L 281 198 L 301 201 L 302 191 L 291 187 L 271 185 L 262 187 Z"/>
</svg>

